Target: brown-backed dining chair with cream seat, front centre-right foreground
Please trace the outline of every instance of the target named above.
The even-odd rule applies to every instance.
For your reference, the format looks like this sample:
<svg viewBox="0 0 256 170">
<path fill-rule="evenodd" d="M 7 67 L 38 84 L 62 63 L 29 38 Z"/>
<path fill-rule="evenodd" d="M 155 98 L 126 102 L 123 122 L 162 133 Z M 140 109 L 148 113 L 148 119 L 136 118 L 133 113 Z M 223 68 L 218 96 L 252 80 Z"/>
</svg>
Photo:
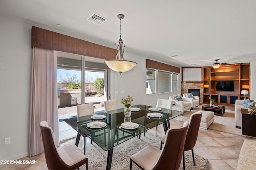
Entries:
<svg viewBox="0 0 256 170">
<path fill-rule="evenodd" d="M 166 132 L 162 150 L 152 145 L 146 146 L 130 157 L 130 170 L 134 162 L 142 170 L 178 170 L 180 167 L 188 122 L 180 129 L 169 129 Z M 175 139 L 175 140 L 174 140 Z"/>
</svg>

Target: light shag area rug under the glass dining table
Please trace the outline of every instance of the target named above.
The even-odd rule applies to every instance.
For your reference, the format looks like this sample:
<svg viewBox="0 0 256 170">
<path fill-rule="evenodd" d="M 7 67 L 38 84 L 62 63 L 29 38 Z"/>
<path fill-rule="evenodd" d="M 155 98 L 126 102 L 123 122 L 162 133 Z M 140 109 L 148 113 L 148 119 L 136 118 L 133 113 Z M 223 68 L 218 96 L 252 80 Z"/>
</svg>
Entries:
<svg viewBox="0 0 256 170">
<path fill-rule="evenodd" d="M 139 150 L 143 149 L 147 145 L 153 145 L 160 149 L 160 137 L 156 135 L 146 133 L 146 137 L 142 135 L 141 139 L 136 137 L 121 143 L 114 147 L 111 170 L 129 170 L 130 168 L 130 156 L 135 154 Z M 83 149 L 81 149 L 83 150 Z M 88 169 L 89 170 L 105 170 L 106 160 L 108 152 L 104 151 L 95 143 L 86 146 L 86 156 L 88 157 Z M 203 170 L 206 166 L 207 159 L 198 155 L 195 156 L 196 166 L 193 165 L 193 159 L 191 151 L 185 152 L 185 166 L 189 170 Z M 86 167 L 80 167 L 80 170 L 85 170 Z M 140 170 L 138 166 L 132 164 L 132 170 Z M 180 164 L 180 170 L 183 170 L 183 163 Z"/>
</svg>

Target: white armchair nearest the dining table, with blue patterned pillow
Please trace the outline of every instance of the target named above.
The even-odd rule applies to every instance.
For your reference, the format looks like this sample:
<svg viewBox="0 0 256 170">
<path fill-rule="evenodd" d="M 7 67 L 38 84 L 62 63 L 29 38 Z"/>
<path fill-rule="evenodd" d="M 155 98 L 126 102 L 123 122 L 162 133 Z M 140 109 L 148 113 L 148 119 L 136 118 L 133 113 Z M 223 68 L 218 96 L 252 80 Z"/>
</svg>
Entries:
<svg viewBox="0 0 256 170">
<path fill-rule="evenodd" d="M 169 100 L 172 100 L 172 104 L 174 104 L 174 106 L 172 106 L 173 110 L 177 110 L 180 112 L 184 112 L 186 110 L 190 110 L 191 111 L 191 103 L 189 102 L 189 100 L 187 100 L 187 98 L 182 98 L 182 101 L 178 101 L 175 100 L 175 96 L 178 97 L 180 95 L 174 95 L 174 96 L 169 96 Z"/>
</svg>

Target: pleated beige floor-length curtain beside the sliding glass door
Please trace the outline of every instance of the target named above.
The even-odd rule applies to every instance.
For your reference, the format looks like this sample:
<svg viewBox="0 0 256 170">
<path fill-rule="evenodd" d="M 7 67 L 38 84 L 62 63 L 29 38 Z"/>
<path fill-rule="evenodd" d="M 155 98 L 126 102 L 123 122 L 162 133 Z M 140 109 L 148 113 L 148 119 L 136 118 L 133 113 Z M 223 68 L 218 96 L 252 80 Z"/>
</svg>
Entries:
<svg viewBox="0 0 256 170">
<path fill-rule="evenodd" d="M 33 48 L 29 118 L 29 156 L 44 152 L 40 122 L 47 121 L 58 143 L 57 52 Z"/>
</svg>

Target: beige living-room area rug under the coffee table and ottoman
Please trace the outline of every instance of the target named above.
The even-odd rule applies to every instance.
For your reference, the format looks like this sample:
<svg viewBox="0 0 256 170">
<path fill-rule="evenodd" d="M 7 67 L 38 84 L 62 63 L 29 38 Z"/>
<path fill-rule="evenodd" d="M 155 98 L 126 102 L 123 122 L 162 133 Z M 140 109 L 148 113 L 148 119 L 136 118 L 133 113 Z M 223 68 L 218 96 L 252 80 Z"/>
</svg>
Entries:
<svg viewBox="0 0 256 170">
<path fill-rule="evenodd" d="M 192 111 L 185 111 L 184 117 L 190 117 L 193 113 L 202 110 L 202 106 L 195 107 Z M 179 118 L 177 118 L 179 119 Z M 182 120 L 182 119 L 181 119 Z M 188 119 L 189 120 L 189 119 Z M 226 109 L 222 116 L 214 115 L 214 123 L 212 123 L 208 129 L 230 133 L 233 135 L 242 135 L 242 129 L 238 129 L 235 126 L 235 113 L 232 110 Z"/>
</svg>

